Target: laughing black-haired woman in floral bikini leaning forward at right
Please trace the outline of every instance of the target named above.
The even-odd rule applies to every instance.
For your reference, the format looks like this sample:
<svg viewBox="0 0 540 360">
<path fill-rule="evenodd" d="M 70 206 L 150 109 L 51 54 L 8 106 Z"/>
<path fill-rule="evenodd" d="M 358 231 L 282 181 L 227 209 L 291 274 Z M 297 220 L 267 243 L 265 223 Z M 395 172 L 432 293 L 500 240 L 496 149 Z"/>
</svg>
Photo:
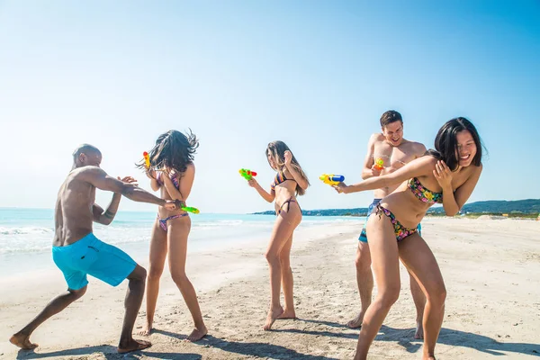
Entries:
<svg viewBox="0 0 540 360">
<path fill-rule="evenodd" d="M 417 232 L 417 225 L 436 202 L 443 204 L 446 215 L 457 214 L 473 193 L 481 173 L 481 139 L 473 123 L 460 117 L 443 125 L 435 139 L 435 150 L 428 150 L 426 156 L 392 174 L 372 177 L 359 184 L 335 186 L 338 193 L 356 193 L 406 181 L 383 198 L 367 220 L 378 293 L 365 312 L 355 359 L 367 357 L 384 318 L 398 300 L 401 287 L 399 258 L 427 297 L 422 359 L 435 359 L 446 288 L 437 260 Z"/>
</svg>

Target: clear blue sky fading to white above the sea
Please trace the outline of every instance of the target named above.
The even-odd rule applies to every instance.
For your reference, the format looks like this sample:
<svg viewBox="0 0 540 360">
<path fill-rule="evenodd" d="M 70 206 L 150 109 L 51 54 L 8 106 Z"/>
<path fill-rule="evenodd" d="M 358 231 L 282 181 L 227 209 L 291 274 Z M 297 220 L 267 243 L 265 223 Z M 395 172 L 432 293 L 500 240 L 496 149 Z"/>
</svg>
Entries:
<svg viewBox="0 0 540 360">
<path fill-rule="evenodd" d="M 188 205 L 203 212 L 272 210 L 238 169 L 269 188 L 276 139 L 310 178 L 302 209 L 367 207 L 373 193 L 318 177 L 360 181 L 390 109 L 427 148 L 473 121 L 488 154 L 469 202 L 540 198 L 539 83 L 534 0 L 0 1 L 0 207 L 54 207 L 84 142 L 149 190 L 134 163 L 171 129 L 200 139 Z"/>
</svg>

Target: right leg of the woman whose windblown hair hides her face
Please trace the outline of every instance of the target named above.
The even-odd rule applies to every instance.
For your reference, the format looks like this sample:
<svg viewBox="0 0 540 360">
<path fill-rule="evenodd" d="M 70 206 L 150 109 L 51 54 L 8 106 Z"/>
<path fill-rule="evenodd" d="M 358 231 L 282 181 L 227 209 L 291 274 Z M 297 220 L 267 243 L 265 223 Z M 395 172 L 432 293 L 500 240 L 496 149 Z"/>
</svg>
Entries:
<svg viewBox="0 0 540 360">
<path fill-rule="evenodd" d="M 193 288 L 193 284 L 185 275 L 185 259 L 187 256 L 187 237 L 191 229 L 191 219 L 188 216 L 171 220 L 168 227 L 168 253 L 169 253 L 169 269 L 171 277 L 175 282 L 180 293 L 184 297 L 184 302 L 191 312 L 195 329 L 187 337 L 189 341 L 197 341 L 203 338 L 208 329 L 202 321 L 201 308 L 197 301 L 197 294 Z"/>
</svg>

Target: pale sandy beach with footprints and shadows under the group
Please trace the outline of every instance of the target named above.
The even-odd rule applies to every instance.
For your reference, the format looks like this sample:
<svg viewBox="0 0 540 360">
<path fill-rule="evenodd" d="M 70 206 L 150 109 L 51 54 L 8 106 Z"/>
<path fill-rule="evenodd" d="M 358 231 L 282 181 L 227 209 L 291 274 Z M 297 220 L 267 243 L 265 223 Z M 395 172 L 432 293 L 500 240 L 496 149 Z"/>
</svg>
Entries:
<svg viewBox="0 0 540 360">
<path fill-rule="evenodd" d="M 184 338 L 192 320 L 164 273 L 153 346 L 116 354 L 127 283 L 111 288 L 90 279 L 85 296 L 53 317 L 19 351 L 7 340 L 65 289 L 58 271 L 0 280 L 2 359 L 351 359 L 358 329 L 344 324 L 360 301 L 354 266 L 362 220 L 299 229 L 292 251 L 298 320 L 278 320 L 265 332 L 269 302 L 266 241 L 227 251 L 188 255 L 187 274 L 197 290 L 209 335 Z M 423 234 L 446 281 L 446 315 L 437 359 L 540 357 L 540 222 L 534 220 L 429 218 Z M 106 239 L 104 239 L 106 240 Z M 143 265 L 146 266 L 144 259 Z M 375 290 L 376 292 L 376 290 Z M 136 327 L 144 320 L 145 304 Z M 401 297 L 384 321 L 371 359 L 419 359 L 413 339 L 414 305 L 401 266 Z"/>
</svg>

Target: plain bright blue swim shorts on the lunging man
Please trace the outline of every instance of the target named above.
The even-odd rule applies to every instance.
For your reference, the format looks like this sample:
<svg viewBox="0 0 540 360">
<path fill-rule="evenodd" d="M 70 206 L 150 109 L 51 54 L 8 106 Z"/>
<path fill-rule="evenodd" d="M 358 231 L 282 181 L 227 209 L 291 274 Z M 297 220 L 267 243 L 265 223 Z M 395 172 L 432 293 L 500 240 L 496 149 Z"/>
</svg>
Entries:
<svg viewBox="0 0 540 360">
<path fill-rule="evenodd" d="M 128 277 L 137 263 L 118 247 L 105 244 L 93 233 L 65 247 L 52 247 L 52 259 L 66 278 L 70 290 L 88 284 L 86 275 L 117 286 Z"/>
</svg>

